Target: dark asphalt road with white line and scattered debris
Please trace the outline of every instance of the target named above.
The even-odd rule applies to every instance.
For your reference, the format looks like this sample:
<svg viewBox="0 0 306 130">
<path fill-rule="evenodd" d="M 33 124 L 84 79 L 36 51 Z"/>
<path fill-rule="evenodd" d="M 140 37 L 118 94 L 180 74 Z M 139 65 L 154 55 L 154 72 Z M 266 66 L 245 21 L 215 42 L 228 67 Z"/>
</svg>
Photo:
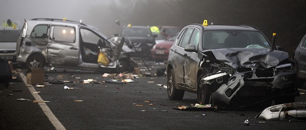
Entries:
<svg viewBox="0 0 306 130">
<path fill-rule="evenodd" d="M 150 61 L 146 63 L 152 73 L 165 66 Z M 140 65 L 145 68 L 143 64 Z M 16 80 L 11 82 L 8 88 L 1 86 L 0 129 L 305 129 L 306 127 L 306 121 L 297 119 L 276 121 L 255 119 L 254 117 L 262 110 L 175 110 L 173 108 L 177 106 L 190 107 L 196 103 L 196 94 L 185 92 L 183 100 L 169 100 L 165 88 L 166 76 L 139 77 L 133 79 L 133 83 L 112 84 L 104 83 L 113 77 L 103 77 L 103 73 L 60 68 L 55 70 L 45 72 L 45 75 L 49 76 L 48 80 L 94 79 L 102 83 L 64 83 L 37 87 Z M 19 71 L 14 75 L 24 79 L 23 73 L 26 71 Z M 75 79 L 79 76 L 80 80 Z M 64 89 L 65 86 L 74 89 Z M 40 93 L 34 94 L 33 91 Z M 301 94 L 296 97 L 296 101 L 306 100 L 304 92 L 300 89 Z M 29 100 L 18 101 L 19 98 Z M 49 102 L 33 103 L 33 100 L 38 99 Z M 248 120 L 250 125 L 244 125 L 245 120 Z"/>
</svg>

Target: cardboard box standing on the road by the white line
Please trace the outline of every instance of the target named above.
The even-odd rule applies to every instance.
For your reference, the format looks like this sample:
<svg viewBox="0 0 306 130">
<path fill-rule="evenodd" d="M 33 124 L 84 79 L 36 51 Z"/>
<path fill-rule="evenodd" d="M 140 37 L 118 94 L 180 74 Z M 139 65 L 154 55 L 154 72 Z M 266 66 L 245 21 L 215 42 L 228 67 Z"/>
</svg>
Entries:
<svg viewBox="0 0 306 130">
<path fill-rule="evenodd" d="M 44 69 L 33 68 L 27 73 L 27 84 L 44 84 Z"/>
</svg>

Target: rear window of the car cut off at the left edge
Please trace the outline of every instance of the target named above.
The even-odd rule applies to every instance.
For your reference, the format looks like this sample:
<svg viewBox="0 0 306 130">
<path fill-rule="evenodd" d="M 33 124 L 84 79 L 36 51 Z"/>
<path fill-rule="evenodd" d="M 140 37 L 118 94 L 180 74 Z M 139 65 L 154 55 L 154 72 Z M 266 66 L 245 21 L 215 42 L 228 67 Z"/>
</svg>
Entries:
<svg viewBox="0 0 306 130">
<path fill-rule="evenodd" d="M 2 30 L 0 31 L 0 42 L 16 42 L 19 30 Z"/>
</svg>

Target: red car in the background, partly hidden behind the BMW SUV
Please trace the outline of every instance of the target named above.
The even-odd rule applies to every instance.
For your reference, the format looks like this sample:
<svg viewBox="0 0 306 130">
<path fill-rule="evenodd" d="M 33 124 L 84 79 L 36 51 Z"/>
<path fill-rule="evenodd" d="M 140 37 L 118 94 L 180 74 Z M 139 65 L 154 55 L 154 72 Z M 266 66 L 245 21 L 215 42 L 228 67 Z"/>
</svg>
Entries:
<svg viewBox="0 0 306 130">
<path fill-rule="evenodd" d="M 162 41 L 153 46 L 151 50 L 152 59 L 156 62 L 163 62 L 168 59 L 169 49 L 173 45 L 177 35 L 179 33 L 174 34 L 174 36 Z"/>
</svg>

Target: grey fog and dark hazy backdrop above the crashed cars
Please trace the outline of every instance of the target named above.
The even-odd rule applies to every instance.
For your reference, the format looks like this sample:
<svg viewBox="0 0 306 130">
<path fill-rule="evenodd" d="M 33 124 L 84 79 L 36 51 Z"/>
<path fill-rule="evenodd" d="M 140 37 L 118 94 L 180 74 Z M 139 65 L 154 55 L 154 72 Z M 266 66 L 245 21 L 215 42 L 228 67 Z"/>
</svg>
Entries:
<svg viewBox="0 0 306 130">
<path fill-rule="evenodd" d="M 2 0 L 0 21 L 11 19 L 22 27 L 23 19 L 66 18 L 92 25 L 106 36 L 132 25 L 175 25 L 202 23 L 249 24 L 258 27 L 271 41 L 277 34 L 281 45 L 292 56 L 306 34 L 306 1 L 278 0 Z"/>
</svg>

